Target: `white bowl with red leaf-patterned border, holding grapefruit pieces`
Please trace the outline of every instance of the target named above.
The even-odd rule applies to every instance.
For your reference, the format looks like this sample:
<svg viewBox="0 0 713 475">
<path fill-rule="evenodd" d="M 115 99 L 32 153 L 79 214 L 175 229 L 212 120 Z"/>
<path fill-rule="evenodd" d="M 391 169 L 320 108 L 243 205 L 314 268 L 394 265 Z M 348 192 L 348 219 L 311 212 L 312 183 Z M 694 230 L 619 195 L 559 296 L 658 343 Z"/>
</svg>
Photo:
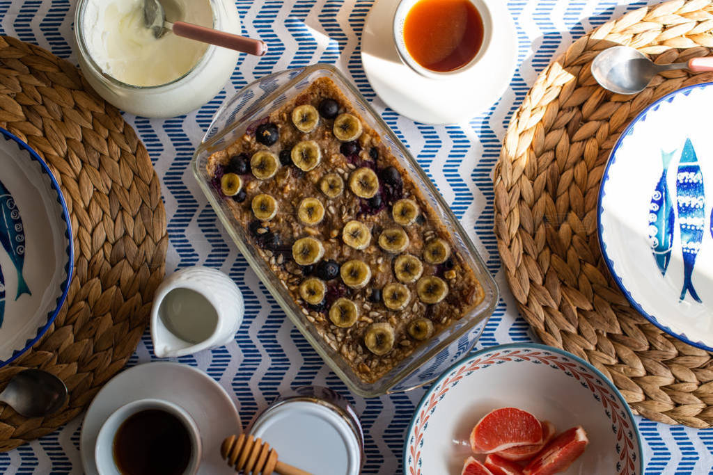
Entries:
<svg viewBox="0 0 713 475">
<path fill-rule="evenodd" d="M 536 343 L 478 351 L 441 375 L 416 406 L 404 475 L 458 475 L 468 437 L 485 414 L 519 407 L 555 424 L 581 425 L 590 443 L 567 474 L 641 475 L 640 436 L 617 388 L 579 357 Z"/>
</svg>

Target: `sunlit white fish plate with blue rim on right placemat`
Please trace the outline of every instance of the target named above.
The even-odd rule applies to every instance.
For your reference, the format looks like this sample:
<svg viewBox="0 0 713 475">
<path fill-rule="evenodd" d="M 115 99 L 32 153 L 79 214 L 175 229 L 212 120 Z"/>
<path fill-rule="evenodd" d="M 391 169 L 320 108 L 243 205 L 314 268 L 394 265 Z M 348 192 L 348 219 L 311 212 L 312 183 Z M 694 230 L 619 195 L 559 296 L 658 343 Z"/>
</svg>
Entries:
<svg viewBox="0 0 713 475">
<path fill-rule="evenodd" d="M 598 221 L 605 262 L 631 305 L 713 350 L 713 83 L 642 111 L 612 149 Z"/>
</svg>

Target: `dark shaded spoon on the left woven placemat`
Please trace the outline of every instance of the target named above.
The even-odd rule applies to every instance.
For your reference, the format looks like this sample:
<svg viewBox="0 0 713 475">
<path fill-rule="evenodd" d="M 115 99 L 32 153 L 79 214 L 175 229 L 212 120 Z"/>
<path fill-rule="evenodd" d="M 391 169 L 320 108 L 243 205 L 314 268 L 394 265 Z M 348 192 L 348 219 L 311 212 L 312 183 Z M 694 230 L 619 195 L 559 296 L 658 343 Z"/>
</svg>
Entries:
<svg viewBox="0 0 713 475">
<path fill-rule="evenodd" d="M 12 377 L 0 401 L 24 417 L 43 417 L 57 412 L 67 400 L 61 379 L 42 370 L 24 370 Z"/>
</svg>

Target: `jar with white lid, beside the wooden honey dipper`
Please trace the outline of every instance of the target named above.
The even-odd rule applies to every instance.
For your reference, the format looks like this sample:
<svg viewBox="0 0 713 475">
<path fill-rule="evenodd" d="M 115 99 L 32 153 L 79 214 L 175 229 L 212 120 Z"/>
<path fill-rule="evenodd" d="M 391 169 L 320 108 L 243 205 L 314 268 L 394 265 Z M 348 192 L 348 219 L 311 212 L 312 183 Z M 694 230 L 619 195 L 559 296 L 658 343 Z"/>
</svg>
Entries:
<svg viewBox="0 0 713 475">
<path fill-rule="evenodd" d="M 250 434 L 269 443 L 279 459 L 314 475 L 358 475 L 364 433 L 354 409 L 326 387 L 299 387 L 258 414 Z"/>
</svg>

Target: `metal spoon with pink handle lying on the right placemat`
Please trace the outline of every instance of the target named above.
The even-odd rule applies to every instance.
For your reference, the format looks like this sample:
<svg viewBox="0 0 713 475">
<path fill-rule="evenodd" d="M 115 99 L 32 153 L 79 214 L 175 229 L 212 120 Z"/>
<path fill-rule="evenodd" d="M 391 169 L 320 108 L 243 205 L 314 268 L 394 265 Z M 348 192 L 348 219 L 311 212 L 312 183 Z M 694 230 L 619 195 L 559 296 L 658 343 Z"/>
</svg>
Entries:
<svg viewBox="0 0 713 475">
<path fill-rule="evenodd" d="M 687 63 L 655 64 L 629 46 L 607 48 L 594 58 L 592 75 L 602 88 L 617 94 L 640 93 L 662 71 L 688 69 L 694 73 L 713 71 L 713 57 L 693 58 Z"/>
</svg>

